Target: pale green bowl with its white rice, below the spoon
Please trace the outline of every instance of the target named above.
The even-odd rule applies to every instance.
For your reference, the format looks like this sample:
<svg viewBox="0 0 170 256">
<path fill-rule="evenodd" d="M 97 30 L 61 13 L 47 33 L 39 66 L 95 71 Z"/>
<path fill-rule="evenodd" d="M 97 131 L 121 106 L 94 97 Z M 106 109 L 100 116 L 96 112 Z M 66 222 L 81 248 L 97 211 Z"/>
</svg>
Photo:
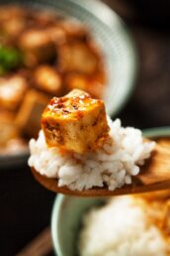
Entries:
<svg viewBox="0 0 170 256">
<path fill-rule="evenodd" d="M 149 138 L 170 137 L 170 128 L 148 129 Z M 58 256 L 170 255 L 170 192 L 112 198 L 57 195 L 51 215 Z"/>
</svg>

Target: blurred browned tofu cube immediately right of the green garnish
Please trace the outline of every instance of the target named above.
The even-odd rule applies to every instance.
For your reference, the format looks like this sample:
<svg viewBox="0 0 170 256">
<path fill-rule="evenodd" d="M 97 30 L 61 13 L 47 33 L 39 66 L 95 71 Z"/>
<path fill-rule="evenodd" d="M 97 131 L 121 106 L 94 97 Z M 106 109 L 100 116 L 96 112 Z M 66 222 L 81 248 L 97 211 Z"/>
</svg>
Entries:
<svg viewBox="0 0 170 256">
<path fill-rule="evenodd" d="M 46 31 L 26 31 L 20 39 L 19 45 L 25 55 L 25 63 L 35 66 L 55 58 L 55 45 Z"/>
</svg>

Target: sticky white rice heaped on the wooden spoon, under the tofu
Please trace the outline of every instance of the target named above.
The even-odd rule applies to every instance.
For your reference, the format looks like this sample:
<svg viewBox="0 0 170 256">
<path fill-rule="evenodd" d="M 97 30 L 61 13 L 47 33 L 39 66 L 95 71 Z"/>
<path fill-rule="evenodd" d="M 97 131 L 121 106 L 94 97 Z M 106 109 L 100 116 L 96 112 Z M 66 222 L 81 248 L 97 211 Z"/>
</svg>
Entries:
<svg viewBox="0 0 170 256">
<path fill-rule="evenodd" d="M 29 166 L 48 178 L 58 179 L 58 186 L 70 190 L 89 190 L 108 186 L 110 191 L 131 184 L 131 176 L 139 173 L 139 166 L 150 157 L 154 142 L 143 143 L 141 131 L 124 128 L 121 121 L 108 118 L 113 145 L 105 143 L 97 152 L 84 155 L 61 155 L 55 147 L 47 148 L 43 132 L 30 141 Z"/>
</svg>

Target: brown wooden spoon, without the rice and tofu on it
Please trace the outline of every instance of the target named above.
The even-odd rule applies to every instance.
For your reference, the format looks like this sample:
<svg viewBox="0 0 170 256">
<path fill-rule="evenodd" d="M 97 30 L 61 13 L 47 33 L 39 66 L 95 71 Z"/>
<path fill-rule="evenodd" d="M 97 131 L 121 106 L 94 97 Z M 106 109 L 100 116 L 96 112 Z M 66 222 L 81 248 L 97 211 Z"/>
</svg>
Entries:
<svg viewBox="0 0 170 256">
<path fill-rule="evenodd" d="M 140 168 L 139 174 L 132 177 L 132 184 L 113 192 L 107 187 L 82 192 L 70 191 L 67 187 L 58 187 L 56 179 L 46 178 L 35 169 L 32 169 L 32 173 L 47 190 L 77 196 L 110 196 L 170 189 L 170 138 L 158 139 L 150 159 Z"/>
</svg>

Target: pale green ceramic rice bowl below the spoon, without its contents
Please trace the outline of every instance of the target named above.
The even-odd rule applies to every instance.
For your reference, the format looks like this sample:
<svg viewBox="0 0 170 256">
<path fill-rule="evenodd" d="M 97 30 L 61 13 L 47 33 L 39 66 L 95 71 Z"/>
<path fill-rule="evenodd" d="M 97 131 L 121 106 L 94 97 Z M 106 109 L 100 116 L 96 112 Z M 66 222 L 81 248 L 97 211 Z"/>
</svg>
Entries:
<svg viewBox="0 0 170 256">
<path fill-rule="evenodd" d="M 170 137 L 170 127 L 148 129 L 143 135 L 149 138 Z M 58 256 L 75 256 L 76 242 L 83 213 L 101 204 L 102 198 L 81 198 L 57 195 L 51 215 L 53 247 Z"/>
</svg>

